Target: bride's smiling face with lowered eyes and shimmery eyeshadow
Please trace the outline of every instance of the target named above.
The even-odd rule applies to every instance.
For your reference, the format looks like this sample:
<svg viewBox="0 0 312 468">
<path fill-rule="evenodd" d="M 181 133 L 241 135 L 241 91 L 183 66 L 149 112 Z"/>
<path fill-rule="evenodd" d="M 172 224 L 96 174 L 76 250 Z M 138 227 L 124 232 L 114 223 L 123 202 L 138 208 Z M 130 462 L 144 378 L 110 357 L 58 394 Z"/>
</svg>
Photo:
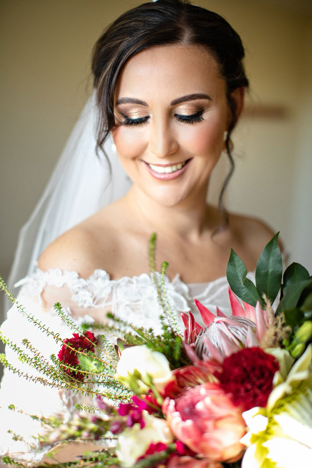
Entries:
<svg viewBox="0 0 312 468">
<path fill-rule="evenodd" d="M 196 45 L 133 56 L 115 91 L 116 151 L 136 189 L 173 206 L 207 186 L 231 121 L 225 80 Z"/>
</svg>

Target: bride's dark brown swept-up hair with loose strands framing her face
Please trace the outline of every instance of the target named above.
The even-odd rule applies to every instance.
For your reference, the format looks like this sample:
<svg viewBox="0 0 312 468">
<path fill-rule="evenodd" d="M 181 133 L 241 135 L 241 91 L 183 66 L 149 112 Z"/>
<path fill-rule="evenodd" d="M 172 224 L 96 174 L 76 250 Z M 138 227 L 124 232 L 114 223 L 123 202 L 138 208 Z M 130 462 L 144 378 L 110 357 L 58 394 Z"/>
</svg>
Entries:
<svg viewBox="0 0 312 468">
<path fill-rule="evenodd" d="M 123 66 L 133 55 L 149 47 L 166 44 L 198 44 L 205 47 L 219 65 L 226 83 L 226 98 L 232 121 L 225 140 L 231 168 L 219 196 L 219 209 L 228 224 L 222 204 L 225 187 L 232 176 L 231 132 L 236 124 L 231 93 L 248 87 L 242 60 L 245 52 L 239 35 L 222 16 L 187 0 L 158 0 L 132 8 L 119 16 L 94 45 L 92 72 L 99 109 L 97 150 L 115 126 L 114 92 Z"/>
</svg>

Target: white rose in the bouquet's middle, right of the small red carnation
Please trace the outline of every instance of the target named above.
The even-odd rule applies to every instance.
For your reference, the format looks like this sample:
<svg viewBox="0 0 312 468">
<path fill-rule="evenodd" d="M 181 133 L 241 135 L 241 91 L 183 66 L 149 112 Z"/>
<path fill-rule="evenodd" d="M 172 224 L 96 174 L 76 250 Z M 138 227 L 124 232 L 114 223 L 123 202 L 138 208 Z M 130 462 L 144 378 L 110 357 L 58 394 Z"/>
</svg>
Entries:
<svg viewBox="0 0 312 468">
<path fill-rule="evenodd" d="M 173 380 L 167 358 L 159 351 L 151 351 L 145 344 L 123 350 L 116 367 L 116 376 L 127 378 L 128 373 L 133 374 L 135 370 L 143 380 L 149 375 L 159 392 L 167 382 Z"/>
</svg>

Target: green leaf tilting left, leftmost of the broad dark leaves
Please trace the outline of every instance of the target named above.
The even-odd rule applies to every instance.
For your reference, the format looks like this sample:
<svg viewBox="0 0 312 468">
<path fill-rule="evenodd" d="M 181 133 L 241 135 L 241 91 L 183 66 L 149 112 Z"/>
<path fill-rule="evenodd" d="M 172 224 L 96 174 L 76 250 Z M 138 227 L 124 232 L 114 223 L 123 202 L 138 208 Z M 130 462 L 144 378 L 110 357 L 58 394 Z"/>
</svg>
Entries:
<svg viewBox="0 0 312 468">
<path fill-rule="evenodd" d="M 263 307 L 263 301 L 252 281 L 246 278 L 247 268 L 236 252 L 231 254 L 226 267 L 226 278 L 232 291 L 243 301 L 255 307 L 257 300 Z"/>
</svg>

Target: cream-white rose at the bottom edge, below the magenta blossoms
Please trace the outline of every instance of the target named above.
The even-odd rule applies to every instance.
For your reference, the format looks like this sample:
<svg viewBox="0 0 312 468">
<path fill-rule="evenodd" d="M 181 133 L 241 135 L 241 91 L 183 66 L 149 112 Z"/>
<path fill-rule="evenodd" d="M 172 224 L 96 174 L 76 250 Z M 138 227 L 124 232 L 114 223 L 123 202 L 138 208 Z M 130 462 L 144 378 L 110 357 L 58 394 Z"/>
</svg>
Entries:
<svg viewBox="0 0 312 468">
<path fill-rule="evenodd" d="M 125 468 L 132 467 L 152 443 L 162 442 L 168 445 L 173 442 L 173 434 L 165 419 L 154 417 L 147 411 L 142 412 L 142 417 L 145 422 L 143 429 L 137 423 L 118 436 L 116 455 Z"/>
</svg>

